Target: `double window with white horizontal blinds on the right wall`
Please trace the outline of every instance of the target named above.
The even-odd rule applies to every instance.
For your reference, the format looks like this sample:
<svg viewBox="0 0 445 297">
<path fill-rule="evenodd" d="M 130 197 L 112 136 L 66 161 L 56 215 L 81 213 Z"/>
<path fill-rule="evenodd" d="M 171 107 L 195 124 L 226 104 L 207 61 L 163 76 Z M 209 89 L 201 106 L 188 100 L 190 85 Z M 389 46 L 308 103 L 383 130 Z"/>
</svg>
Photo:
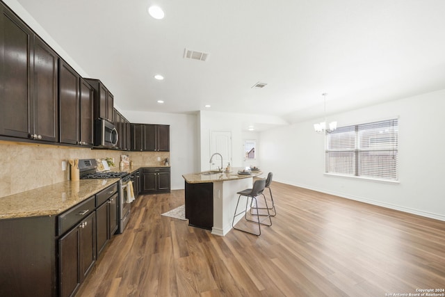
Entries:
<svg viewBox="0 0 445 297">
<path fill-rule="evenodd" d="M 326 134 L 326 172 L 398 180 L 398 120 L 339 127 Z"/>
</svg>

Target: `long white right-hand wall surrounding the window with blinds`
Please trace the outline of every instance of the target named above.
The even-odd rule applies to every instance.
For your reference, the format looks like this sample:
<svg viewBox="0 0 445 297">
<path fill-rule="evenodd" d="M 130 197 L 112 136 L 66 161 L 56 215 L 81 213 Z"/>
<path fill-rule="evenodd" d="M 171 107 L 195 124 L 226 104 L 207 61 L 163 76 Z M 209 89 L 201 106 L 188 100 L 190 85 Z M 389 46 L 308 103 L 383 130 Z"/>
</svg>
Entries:
<svg viewBox="0 0 445 297">
<path fill-rule="evenodd" d="M 445 220 L 445 90 L 330 115 L 339 126 L 399 118 L 399 181 L 324 175 L 324 137 L 314 119 L 261 133 L 261 169 L 274 180 L 344 198 Z"/>
</svg>

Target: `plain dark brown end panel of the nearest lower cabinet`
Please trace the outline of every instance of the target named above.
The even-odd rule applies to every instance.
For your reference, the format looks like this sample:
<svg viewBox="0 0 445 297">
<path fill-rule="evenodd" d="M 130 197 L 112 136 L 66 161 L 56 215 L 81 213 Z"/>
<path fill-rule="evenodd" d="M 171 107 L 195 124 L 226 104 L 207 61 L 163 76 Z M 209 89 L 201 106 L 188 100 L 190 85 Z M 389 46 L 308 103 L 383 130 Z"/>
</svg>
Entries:
<svg viewBox="0 0 445 297">
<path fill-rule="evenodd" d="M 58 296 L 54 216 L 0 220 L 0 296 Z"/>
</svg>

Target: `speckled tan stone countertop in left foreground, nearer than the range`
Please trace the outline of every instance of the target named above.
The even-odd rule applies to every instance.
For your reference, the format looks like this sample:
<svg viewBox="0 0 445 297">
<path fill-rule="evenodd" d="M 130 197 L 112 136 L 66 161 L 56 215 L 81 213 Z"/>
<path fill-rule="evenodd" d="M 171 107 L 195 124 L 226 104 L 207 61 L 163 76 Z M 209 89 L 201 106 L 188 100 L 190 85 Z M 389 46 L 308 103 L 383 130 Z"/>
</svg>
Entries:
<svg viewBox="0 0 445 297">
<path fill-rule="evenodd" d="M 0 198 L 0 220 L 30 216 L 56 216 L 119 179 L 81 179 L 42 186 Z"/>
</svg>

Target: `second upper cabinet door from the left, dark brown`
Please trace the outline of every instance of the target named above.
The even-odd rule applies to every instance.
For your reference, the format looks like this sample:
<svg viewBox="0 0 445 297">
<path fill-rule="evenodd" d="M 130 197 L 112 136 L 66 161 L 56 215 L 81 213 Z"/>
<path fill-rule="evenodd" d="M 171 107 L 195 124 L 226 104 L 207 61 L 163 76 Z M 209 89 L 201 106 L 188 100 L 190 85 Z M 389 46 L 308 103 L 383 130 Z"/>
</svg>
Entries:
<svg viewBox="0 0 445 297">
<path fill-rule="evenodd" d="M 34 134 L 58 141 L 58 56 L 35 36 L 33 67 Z"/>
</svg>

